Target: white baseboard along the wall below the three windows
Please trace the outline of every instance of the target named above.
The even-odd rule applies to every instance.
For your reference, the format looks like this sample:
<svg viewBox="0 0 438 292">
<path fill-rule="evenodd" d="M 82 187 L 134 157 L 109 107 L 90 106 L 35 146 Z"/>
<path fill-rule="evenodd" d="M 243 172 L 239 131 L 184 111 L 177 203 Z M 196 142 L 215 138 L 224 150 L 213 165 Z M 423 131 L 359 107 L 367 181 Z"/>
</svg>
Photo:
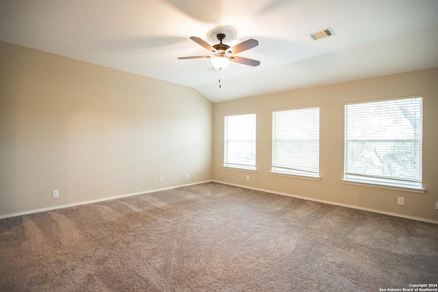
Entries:
<svg viewBox="0 0 438 292">
<path fill-rule="evenodd" d="M 358 209 L 358 210 L 363 210 L 363 211 L 368 211 L 368 212 L 373 212 L 373 213 L 381 213 L 381 214 L 395 216 L 395 217 L 402 217 L 402 218 L 407 218 L 407 219 L 411 219 L 411 220 L 417 220 L 417 221 L 422 221 L 422 222 L 438 224 L 438 221 L 436 221 L 436 220 L 429 220 L 429 219 L 422 218 L 422 217 L 415 217 L 415 216 L 409 216 L 409 215 L 403 215 L 403 214 L 398 214 L 398 213 L 376 210 L 376 209 L 363 208 L 363 207 L 359 207 L 359 206 L 355 206 L 355 205 L 342 204 L 342 203 L 338 203 L 338 202 L 331 202 L 331 201 L 326 201 L 326 200 L 309 198 L 309 197 L 305 197 L 305 196 L 296 196 L 293 194 L 282 193 L 280 191 L 271 191 L 270 189 L 260 189 L 258 187 L 248 187 L 247 185 L 237 185 L 235 183 L 227 183 L 224 181 L 214 181 L 214 182 L 215 183 L 223 183 L 224 185 L 233 185 L 235 187 L 243 187 L 245 189 L 254 189 L 255 191 L 266 191 L 267 193 L 277 194 L 277 195 L 281 195 L 281 196 L 288 196 L 288 197 L 292 197 L 292 198 L 298 198 L 298 199 L 309 200 L 309 201 L 314 201 L 314 202 L 322 202 L 324 204 L 333 204 L 335 206 L 348 207 L 348 208 L 352 208 L 352 209 Z"/>
</svg>

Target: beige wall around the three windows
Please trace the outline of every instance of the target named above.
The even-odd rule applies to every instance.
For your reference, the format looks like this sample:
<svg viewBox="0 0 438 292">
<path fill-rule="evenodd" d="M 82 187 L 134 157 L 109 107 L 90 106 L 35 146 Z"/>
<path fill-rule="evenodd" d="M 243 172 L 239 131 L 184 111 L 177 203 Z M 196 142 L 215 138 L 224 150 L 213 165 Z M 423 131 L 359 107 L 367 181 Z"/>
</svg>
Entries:
<svg viewBox="0 0 438 292">
<path fill-rule="evenodd" d="M 294 82 L 291 78 L 291 82 Z M 346 185 L 344 171 L 344 104 L 400 96 L 423 96 L 423 181 L 426 192 Z M 320 107 L 320 181 L 270 174 L 272 111 Z M 257 172 L 222 168 L 224 116 L 257 114 Z M 315 200 L 420 217 L 438 222 L 438 68 L 399 75 L 294 90 L 214 104 L 213 170 L 216 181 L 268 189 Z M 246 181 L 246 175 L 250 181 Z M 397 197 L 404 197 L 404 206 Z"/>
</svg>

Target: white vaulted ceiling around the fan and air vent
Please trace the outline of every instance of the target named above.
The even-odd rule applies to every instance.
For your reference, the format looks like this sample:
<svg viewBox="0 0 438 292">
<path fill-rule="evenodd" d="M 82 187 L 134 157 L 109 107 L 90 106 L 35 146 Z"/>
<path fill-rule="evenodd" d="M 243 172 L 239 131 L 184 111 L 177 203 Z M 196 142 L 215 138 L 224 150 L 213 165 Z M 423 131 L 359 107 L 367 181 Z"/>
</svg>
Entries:
<svg viewBox="0 0 438 292">
<path fill-rule="evenodd" d="M 208 70 L 209 31 L 259 46 Z M 334 36 L 307 36 L 331 27 Z M 0 40 L 190 86 L 210 101 L 438 66 L 438 0 L 1 0 Z"/>
</svg>

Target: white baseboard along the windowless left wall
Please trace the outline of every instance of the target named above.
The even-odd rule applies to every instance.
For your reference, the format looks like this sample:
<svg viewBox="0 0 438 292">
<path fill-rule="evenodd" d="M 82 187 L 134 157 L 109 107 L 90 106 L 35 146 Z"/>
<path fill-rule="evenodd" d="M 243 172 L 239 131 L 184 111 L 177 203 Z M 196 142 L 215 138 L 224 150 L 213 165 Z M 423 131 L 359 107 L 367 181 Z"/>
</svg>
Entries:
<svg viewBox="0 0 438 292">
<path fill-rule="evenodd" d="M 188 185 L 199 185 L 200 183 L 209 183 L 209 182 L 211 182 L 211 181 L 198 181 L 196 183 L 188 183 L 186 185 L 175 185 L 173 187 L 163 187 L 162 189 L 150 189 L 149 191 L 137 191 L 136 193 L 131 193 L 131 194 L 123 194 L 123 195 L 118 195 L 118 196 L 99 198 L 99 199 L 95 199 L 95 200 L 86 200 L 86 201 L 75 202 L 75 203 L 71 203 L 71 204 L 62 204 L 62 205 L 53 206 L 53 207 L 33 209 L 33 210 L 17 212 L 17 213 L 10 213 L 10 214 L 5 214 L 5 215 L 0 215 L 0 219 L 9 218 L 9 217 L 16 217 L 16 216 L 21 216 L 21 215 L 27 215 L 27 214 L 33 214 L 33 213 L 39 213 L 39 212 L 44 212 L 44 211 L 52 211 L 52 210 L 63 209 L 63 208 L 68 208 L 68 207 L 75 207 L 75 206 L 79 206 L 81 204 L 92 204 L 92 203 L 96 203 L 96 202 L 104 202 L 104 201 L 109 201 L 109 200 L 114 200 L 114 199 L 119 199 L 119 198 L 138 196 L 138 195 L 142 195 L 142 194 L 153 193 L 155 191 L 166 191 L 167 189 L 176 189 L 177 187 L 185 187 Z"/>
</svg>

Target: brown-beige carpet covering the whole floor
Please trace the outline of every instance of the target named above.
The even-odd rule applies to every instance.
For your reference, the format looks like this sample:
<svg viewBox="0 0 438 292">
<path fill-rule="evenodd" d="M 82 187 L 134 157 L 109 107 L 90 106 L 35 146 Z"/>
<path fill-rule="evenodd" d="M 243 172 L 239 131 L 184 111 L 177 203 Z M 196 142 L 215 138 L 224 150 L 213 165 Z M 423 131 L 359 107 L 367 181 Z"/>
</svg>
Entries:
<svg viewBox="0 0 438 292">
<path fill-rule="evenodd" d="M 1 291 L 379 291 L 438 282 L 438 226 L 219 183 L 0 220 Z"/>
</svg>

